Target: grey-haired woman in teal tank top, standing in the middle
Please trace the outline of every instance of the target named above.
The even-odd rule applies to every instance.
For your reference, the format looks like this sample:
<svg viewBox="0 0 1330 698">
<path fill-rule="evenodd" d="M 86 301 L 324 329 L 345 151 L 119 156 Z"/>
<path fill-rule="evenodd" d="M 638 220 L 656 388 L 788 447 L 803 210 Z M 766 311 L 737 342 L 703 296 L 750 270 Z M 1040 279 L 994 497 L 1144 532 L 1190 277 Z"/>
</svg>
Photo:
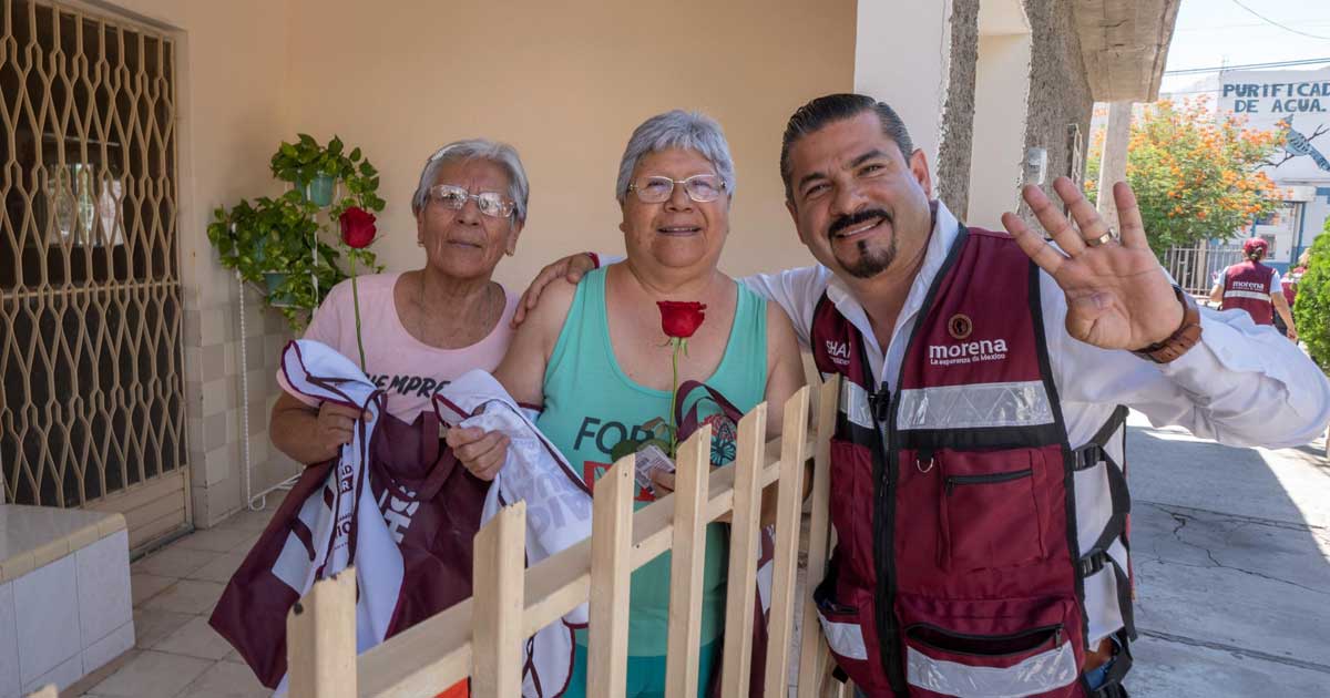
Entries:
<svg viewBox="0 0 1330 698">
<path fill-rule="evenodd" d="M 734 165 L 720 125 L 680 110 L 646 120 L 624 152 L 616 197 L 626 261 L 577 286 L 551 285 L 495 372 L 515 399 L 543 407 L 537 425 L 592 487 L 613 463 L 616 445 L 641 440 L 650 431 L 648 423 L 668 419 L 672 348 L 661 328 L 660 300 L 706 304 L 706 319 L 680 362 L 681 382 L 704 382 L 745 412 L 762 400 L 782 404 L 803 382 L 785 314 L 717 269 L 734 197 Z M 710 400 L 700 404 L 701 417 L 717 420 L 709 408 Z M 770 436 L 778 433 L 779 413 L 769 411 Z M 733 456 L 733 448 L 725 448 L 733 431 L 718 432 L 713 465 Z M 670 484 L 669 476 L 660 477 L 656 491 L 668 492 Z M 726 538 L 724 524 L 708 528 L 700 695 L 720 665 Z M 669 553 L 633 573 L 630 697 L 665 691 L 669 576 Z M 567 695 L 587 690 L 584 632 L 577 645 Z"/>
</svg>

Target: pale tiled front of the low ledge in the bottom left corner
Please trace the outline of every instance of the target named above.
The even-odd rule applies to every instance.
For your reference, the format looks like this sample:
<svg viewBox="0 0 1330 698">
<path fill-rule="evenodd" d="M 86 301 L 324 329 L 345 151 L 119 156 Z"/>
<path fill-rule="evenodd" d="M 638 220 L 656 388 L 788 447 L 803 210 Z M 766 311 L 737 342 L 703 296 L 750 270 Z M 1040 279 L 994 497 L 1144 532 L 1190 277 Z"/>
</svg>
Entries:
<svg viewBox="0 0 1330 698">
<path fill-rule="evenodd" d="M 0 698 L 64 690 L 133 645 L 124 529 L 0 584 Z"/>
</svg>

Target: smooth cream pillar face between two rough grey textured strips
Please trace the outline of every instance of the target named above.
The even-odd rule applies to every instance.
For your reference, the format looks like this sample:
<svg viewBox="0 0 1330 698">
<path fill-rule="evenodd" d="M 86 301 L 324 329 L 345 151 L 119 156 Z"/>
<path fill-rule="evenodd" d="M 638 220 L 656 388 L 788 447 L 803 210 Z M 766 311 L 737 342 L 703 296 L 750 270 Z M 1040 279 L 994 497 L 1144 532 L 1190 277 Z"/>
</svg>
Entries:
<svg viewBox="0 0 1330 698">
<path fill-rule="evenodd" d="M 1029 33 L 980 35 L 966 222 L 996 227 L 1016 210 L 1029 104 Z"/>
</svg>

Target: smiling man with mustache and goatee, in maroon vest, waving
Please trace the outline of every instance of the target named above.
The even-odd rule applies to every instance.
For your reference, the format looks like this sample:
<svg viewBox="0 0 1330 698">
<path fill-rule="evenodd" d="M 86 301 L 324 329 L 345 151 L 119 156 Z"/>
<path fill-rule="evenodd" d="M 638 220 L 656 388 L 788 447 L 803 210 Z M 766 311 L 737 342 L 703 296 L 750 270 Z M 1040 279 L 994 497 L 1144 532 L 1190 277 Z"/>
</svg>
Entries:
<svg viewBox="0 0 1330 698">
<path fill-rule="evenodd" d="M 930 198 L 896 113 L 859 94 L 794 113 L 781 174 L 819 265 L 745 283 L 842 378 L 838 545 L 814 594 L 841 670 L 871 697 L 1125 695 L 1127 408 L 1295 445 L 1330 420 L 1330 384 L 1274 331 L 1174 287 L 1125 183 L 1121 235 L 1067 178 L 1076 225 L 1023 193 L 1052 241 L 1011 213 L 1007 234 L 967 227 Z M 589 266 L 551 265 L 528 295 Z"/>
</svg>

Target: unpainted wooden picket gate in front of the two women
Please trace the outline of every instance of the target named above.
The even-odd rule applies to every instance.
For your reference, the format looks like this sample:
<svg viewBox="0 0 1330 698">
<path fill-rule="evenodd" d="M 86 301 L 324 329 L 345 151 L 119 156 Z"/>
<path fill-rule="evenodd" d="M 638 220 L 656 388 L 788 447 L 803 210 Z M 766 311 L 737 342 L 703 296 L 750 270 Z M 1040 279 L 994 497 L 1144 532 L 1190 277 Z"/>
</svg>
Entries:
<svg viewBox="0 0 1330 698">
<path fill-rule="evenodd" d="M 503 509 L 477 534 L 475 596 L 355 655 L 355 570 L 314 585 L 287 618 L 290 695 L 434 695 L 471 677 L 475 698 L 521 694 L 521 646 L 536 630 L 579 604 L 589 604 L 588 695 L 624 694 L 628 654 L 629 576 L 673 550 L 666 695 L 697 695 L 701 589 L 706 524 L 733 512 L 726 590 L 721 695 L 749 691 L 751 620 L 761 529 L 761 493 L 779 481 L 775 560 L 765 670 L 767 698 L 787 693 L 794 614 L 802 613 L 798 698 L 819 695 L 830 655 L 813 605 L 830 542 L 830 439 L 839 380 L 821 386 L 807 584 L 795 598 L 803 475 L 809 449 L 809 396 L 805 387 L 785 404 L 783 435 L 766 443 L 766 403 L 738 425 L 734 464 L 710 469 L 710 428 L 680 447 L 674 495 L 633 512 L 633 460 L 618 463 L 598 481 L 593 536 L 524 568 L 525 504 Z M 779 451 L 778 456 L 771 451 Z M 709 475 L 709 476 L 706 476 Z M 797 604 L 798 601 L 798 604 Z M 834 693 L 847 689 L 837 685 Z"/>
</svg>

